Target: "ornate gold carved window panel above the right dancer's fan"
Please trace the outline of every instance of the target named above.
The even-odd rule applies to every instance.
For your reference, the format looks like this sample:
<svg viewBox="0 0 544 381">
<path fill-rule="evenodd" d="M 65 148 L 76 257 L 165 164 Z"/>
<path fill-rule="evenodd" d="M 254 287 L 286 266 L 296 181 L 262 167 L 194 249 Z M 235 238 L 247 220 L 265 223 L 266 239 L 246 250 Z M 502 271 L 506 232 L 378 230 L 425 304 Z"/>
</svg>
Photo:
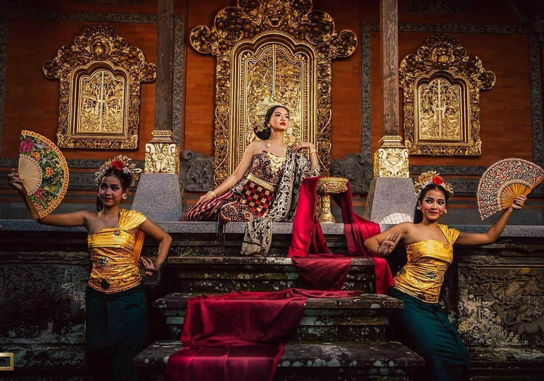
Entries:
<svg viewBox="0 0 544 381">
<path fill-rule="evenodd" d="M 426 40 L 399 71 L 410 155 L 481 155 L 480 90 L 493 87 L 494 73 L 447 35 Z"/>
</svg>

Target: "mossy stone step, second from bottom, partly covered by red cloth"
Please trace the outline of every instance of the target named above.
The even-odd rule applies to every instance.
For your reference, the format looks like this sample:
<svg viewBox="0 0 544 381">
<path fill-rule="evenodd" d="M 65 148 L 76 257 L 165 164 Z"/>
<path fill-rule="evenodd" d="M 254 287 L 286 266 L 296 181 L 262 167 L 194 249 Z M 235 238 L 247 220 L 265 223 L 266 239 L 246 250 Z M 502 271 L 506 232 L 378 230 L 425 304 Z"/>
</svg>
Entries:
<svg viewBox="0 0 544 381">
<path fill-rule="evenodd" d="M 169 338 L 179 339 L 187 301 L 197 293 L 171 293 L 153 302 L 166 317 Z M 308 298 L 293 341 L 385 341 L 385 326 L 401 300 L 361 294 L 351 298 Z"/>
</svg>

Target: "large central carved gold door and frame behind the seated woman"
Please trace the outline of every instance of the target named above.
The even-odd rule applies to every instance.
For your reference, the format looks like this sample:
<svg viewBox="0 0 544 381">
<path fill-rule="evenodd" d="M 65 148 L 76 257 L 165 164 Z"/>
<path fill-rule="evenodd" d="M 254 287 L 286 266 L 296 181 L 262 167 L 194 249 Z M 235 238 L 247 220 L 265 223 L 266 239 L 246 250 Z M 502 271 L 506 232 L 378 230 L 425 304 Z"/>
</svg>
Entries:
<svg viewBox="0 0 544 381">
<path fill-rule="evenodd" d="M 316 145 L 322 173 L 331 164 L 331 62 L 357 46 L 350 30 L 336 32 L 311 0 L 238 0 L 215 15 L 211 28 L 190 33 L 193 48 L 217 57 L 214 183 L 237 167 L 256 139 L 267 106 L 285 105 L 292 131 L 286 143 Z"/>
</svg>

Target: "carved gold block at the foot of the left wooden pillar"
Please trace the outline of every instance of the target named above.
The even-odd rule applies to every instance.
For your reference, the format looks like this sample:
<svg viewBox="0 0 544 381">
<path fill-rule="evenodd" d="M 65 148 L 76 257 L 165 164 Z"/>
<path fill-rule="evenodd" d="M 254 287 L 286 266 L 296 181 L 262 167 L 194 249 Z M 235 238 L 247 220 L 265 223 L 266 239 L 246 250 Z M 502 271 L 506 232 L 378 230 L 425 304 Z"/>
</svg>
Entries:
<svg viewBox="0 0 544 381">
<path fill-rule="evenodd" d="M 180 173 L 180 153 L 170 130 L 151 131 L 153 139 L 145 145 L 146 173 Z"/>
</svg>

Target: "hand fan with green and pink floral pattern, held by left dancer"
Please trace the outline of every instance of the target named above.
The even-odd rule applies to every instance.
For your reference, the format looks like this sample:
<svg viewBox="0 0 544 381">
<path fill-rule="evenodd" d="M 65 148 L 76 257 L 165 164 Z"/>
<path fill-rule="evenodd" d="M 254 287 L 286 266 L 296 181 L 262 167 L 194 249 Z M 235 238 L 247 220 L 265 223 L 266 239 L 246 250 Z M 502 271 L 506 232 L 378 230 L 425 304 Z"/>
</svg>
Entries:
<svg viewBox="0 0 544 381">
<path fill-rule="evenodd" d="M 44 136 L 21 131 L 18 174 L 34 219 L 51 213 L 68 188 L 68 165 L 62 152 Z"/>
</svg>

